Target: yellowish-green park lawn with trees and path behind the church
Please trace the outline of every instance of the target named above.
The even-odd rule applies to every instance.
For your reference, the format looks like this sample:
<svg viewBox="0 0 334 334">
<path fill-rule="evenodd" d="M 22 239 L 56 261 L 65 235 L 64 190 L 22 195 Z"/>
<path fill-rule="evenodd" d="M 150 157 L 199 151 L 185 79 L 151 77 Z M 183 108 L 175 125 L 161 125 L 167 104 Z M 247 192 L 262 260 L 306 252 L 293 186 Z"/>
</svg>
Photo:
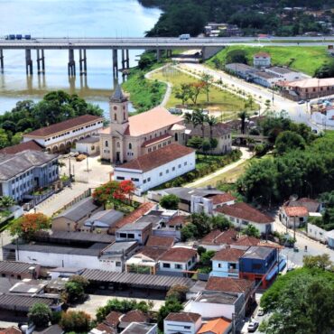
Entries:
<svg viewBox="0 0 334 334">
<path fill-rule="evenodd" d="M 153 74 L 152 79 L 158 79 L 165 82 L 172 83 L 172 95 L 167 103 L 167 107 L 175 107 L 175 105 L 180 105 L 181 100 L 174 96 L 175 90 L 181 86 L 182 83 L 192 83 L 198 82 L 196 78 L 187 75 L 180 70 L 169 70 L 158 71 Z M 221 90 L 218 88 L 210 88 L 209 91 L 209 104 L 207 104 L 207 97 L 205 92 L 201 92 L 198 97 L 198 106 L 205 107 L 210 110 L 219 110 L 227 112 L 224 116 L 233 116 L 237 114 L 240 110 L 245 107 L 245 99 L 237 97 L 237 95 L 227 92 L 226 90 Z M 188 101 L 188 106 L 191 108 L 190 101 Z M 231 117 L 229 117 L 231 118 Z"/>
</svg>

